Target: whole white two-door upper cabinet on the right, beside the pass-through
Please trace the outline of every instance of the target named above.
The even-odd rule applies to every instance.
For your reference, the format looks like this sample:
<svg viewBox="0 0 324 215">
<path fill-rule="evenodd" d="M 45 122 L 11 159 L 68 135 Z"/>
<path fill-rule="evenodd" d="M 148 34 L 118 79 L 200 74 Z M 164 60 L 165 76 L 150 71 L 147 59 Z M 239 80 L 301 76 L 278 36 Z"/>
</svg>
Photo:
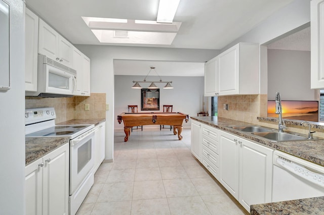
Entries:
<svg viewBox="0 0 324 215">
<path fill-rule="evenodd" d="M 259 44 L 238 43 L 205 64 L 205 96 L 259 94 Z"/>
</svg>

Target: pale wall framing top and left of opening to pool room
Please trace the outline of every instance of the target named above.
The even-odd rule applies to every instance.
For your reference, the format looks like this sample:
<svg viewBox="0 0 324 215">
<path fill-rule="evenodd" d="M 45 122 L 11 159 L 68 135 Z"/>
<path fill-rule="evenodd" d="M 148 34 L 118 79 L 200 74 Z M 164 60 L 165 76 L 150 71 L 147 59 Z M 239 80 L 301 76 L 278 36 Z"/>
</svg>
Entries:
<svg viewBox="0 0 324 215">
<path fill-rule="evenodd" d="M 179 62 L 206 62 L 219 50 L 187 48 L 151 48 L 105 45 L 75 45 L 91 59 L 91 91 L 105 92 L 109 111 L 106 111 L 106 157 L 113 159 L 114 132 L 114 72 L 113 60 L 152 60 Z"/>
</svg>

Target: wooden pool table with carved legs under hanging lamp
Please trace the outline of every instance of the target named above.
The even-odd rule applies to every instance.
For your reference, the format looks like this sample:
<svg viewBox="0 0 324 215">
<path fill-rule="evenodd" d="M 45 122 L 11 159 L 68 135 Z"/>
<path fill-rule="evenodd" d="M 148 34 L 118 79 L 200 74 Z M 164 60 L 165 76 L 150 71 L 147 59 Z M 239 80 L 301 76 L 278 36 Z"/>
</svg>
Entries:
<svg viewBox="0 0 324 215">
<path fill-rule="evenodd" d="M 178 133 L 179 140 L 182 140 L 182 122 L 188 122 L 189 115 L 183 113 L 121 113 L 117 116 L 118 123 L 124 121 L 125 142 L 131 134 L 131 128 L 142 125 L 170 125 L 173 126 L 173 134 Z M 178 132 L 177 132 L 178 131 Z"/>
</svg>

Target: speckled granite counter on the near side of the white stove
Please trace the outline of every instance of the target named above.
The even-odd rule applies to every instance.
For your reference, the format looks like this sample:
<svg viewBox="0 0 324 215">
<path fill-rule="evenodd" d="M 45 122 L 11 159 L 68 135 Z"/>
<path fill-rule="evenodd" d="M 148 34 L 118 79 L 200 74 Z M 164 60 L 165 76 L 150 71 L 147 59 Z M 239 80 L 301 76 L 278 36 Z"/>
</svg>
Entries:
<svg viewBox="0 0 324 215">
<path fill-rule="evenodd" d="M 68 137 L 26 137 L 25 165 L 68 142 Z"/>
</svg>

